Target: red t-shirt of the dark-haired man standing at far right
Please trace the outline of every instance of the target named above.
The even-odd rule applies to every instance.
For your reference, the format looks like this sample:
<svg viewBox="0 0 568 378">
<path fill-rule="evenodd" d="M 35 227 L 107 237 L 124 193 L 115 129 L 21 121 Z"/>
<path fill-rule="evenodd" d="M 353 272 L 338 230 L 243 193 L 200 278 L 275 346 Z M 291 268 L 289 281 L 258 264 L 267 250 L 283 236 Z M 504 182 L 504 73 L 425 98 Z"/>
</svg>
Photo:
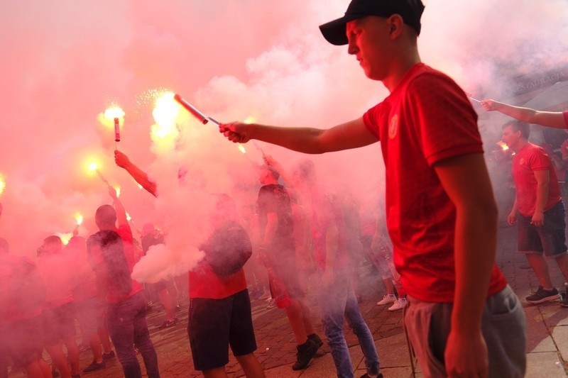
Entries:
<svg viewBox="0 0 568 378">
<path fill-rule="evenodd" d="M 552 167 L 550 157 L 545 150 L 532 143 L 527 143 L 513 157 L 511 172 L 517 191 L 517 206 L 523 216 L 532 216 L 535 213 L 537 203 L 537 180 L 535 171 L 550 172 L 550 184 L 548 187 L 548 199 L 545 211 L 555 206 L 561 199 L 560 187 L 555 169 Z"/>
</svg>

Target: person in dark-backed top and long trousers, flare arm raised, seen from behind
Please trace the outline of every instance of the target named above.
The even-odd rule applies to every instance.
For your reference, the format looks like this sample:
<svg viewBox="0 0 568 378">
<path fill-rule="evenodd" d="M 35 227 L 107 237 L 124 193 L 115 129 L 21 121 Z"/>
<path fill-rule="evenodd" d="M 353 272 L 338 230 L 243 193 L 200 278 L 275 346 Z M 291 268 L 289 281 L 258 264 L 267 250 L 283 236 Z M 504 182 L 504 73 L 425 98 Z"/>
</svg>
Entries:
<svg viewBox="0 0 568 378">
<path fill-rule="evenodd" d="M 97 274 L 99 294 L 103 294 L 107 302 L 107 328 L 125 377 L 142 377 L 133 348 L 136 346 L 143 357 L 148 377 L 158 378 L 158 356 L 148 333 L 142 284 L 130 277 L 136 263 L 132 231 L 114 188 L 109 187 L 109 194 L 113 206 L 99 206 L 94 215 L 99 232 L 87 239 L 87 251 Z"/>
</svg>

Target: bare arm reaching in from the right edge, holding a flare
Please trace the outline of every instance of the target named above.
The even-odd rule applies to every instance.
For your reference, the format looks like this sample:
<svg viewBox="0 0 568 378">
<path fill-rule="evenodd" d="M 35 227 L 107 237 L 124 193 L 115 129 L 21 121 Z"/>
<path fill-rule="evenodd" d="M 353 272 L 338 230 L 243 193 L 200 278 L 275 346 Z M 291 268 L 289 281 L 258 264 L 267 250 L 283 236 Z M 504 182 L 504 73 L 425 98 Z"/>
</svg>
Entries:
<svg viewBox="0 0 568 378">
<path fill-rule="evenodd" d="M 538 111 L 504 104 L 495 100 L 483 100 L 481 101 L 481 107 L 486 111 L 500 111 L 507 116 L 526 123 L 536 123 L 537 125 L 549 126 L 551 128 L 568 128 L 562 111 Z"/>
</svg>

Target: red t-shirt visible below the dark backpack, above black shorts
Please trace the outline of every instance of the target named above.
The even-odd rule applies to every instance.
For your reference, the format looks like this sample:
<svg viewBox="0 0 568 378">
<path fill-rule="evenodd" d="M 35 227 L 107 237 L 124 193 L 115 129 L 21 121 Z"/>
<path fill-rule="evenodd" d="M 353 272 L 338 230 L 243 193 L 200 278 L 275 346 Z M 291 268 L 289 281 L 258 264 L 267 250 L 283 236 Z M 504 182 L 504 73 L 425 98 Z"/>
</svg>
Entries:
<svg viewBox="0 0 568 378">
<path fill-rule="evenodd" d="M 207 262 L 190 270 L 190 298 L 223 299 L 246 289 L 244 270 L 219 277 Z"/>
</svg>

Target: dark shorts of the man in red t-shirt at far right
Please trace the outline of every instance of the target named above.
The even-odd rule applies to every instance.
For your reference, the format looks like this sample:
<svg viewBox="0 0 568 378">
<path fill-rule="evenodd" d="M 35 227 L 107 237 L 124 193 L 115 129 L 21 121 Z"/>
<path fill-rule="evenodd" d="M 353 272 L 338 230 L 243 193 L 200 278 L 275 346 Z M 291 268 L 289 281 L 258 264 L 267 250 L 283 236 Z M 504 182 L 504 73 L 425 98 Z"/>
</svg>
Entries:
<svg viewBox="0 0 568 378">
<path fill-rule="evenodd" d="M 546 257 L 559 257 L 566 253 L 566 221 L 564 203 L 545 211 L 545 224 L 536 227 L 530 224 L 532 216 L 518 214 L 518 250 L 521 253 L 537 253 Z"/>
</svg>

